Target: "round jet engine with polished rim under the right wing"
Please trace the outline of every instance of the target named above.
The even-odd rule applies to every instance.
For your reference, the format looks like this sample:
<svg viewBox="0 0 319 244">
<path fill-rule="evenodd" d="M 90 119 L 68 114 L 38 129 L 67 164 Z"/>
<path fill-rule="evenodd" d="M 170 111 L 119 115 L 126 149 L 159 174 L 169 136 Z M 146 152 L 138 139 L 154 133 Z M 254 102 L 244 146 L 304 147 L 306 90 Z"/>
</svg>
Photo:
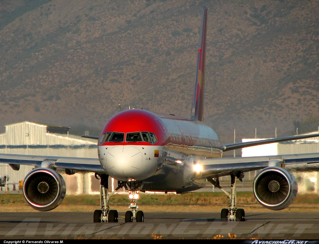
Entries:
<svg viewBox="0 0 319 244">
<path fill-rule="evenodd" d="M 256 175 L 253 189 L 261 205 L 271 210 L 281 210 L 293 203 L 298 185 L 293 174 L 275 166 L 266 167 Z"/>
</svg>

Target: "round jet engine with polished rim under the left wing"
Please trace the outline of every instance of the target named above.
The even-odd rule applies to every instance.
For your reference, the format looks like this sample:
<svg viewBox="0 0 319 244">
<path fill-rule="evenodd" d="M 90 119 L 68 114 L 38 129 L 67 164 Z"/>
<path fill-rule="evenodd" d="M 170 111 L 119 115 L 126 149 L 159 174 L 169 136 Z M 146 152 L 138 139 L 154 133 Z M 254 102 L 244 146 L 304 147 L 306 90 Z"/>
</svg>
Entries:
<svg viewBox="0 0 319 244">
<path fill-rule="evenodd" d="M 61 174 L 49 168 L 33 169 L 23 182 L 23 195 L 27 203 L 38 211 L 50 211 L 59 206 L 65 191 Z"/>
</svg>

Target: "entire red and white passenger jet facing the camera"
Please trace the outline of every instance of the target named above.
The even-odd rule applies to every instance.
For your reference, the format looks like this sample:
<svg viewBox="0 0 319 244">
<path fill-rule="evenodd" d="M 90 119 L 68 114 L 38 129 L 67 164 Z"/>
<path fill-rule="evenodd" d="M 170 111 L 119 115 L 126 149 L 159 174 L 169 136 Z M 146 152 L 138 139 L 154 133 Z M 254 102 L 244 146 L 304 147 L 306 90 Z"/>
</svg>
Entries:
<svg viewBox="0 0 319 244">
<path fill-rule="evenodd" d="M 319 134 L 266 139 L 254 142 L 222 144 L 216 133 L 203 123 L 204 75 L 207 30 L 207 8 L 203 8 L 196 79 L 189 119 L 174 115 L 162 116 L 142 110 L 122 111 L 108 120 L 98 140 L 98 159 L 0 154 L 0 162 L 14 170 L 20 165 L 33 165 L 26 175 L 23 195 L 36 210 L 50 211 L 65 196 L 66 186 L 57 168 L 66 174 L 77 170 L 94 172 L 100 179 L 100 209 L 93 214 L 94 222 L 118 222 L 116 210 L 110 210 L 110 197 L 121 188 L 129 190 L 129 211 L 125 222 L 144 222 L 139 211 L 139 192 L 183 192 L 203 188 L 207 181 L 230 198 L 228 209 L 221 210 L 222 221 L 244 221 L 245 211 L 237 208 L 235 179 L 245 172 L 261 170 L 253 183 L 257 201 L 271 210 L 288 207 L 297 195 L 297 181 L 285 169 L 291 164 L 319 162 L 319 153 L 262 157 L 222 158 L 225 151 L 249 146 L 282 142 Z M 219 185 L 219 177 L 231 176 L 231 192 Z M 118 187 L 108 191 L 108 177 L 118 181 Z"/>
</svg>

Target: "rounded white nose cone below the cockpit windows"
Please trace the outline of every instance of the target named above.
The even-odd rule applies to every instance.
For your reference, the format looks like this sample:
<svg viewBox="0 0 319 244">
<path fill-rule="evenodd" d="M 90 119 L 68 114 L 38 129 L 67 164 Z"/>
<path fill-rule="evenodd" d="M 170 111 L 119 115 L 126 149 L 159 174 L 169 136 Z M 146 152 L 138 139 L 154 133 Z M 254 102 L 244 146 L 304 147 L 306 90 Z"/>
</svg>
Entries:
<svg viewBox="0 0 319 244">
<path fill-rule="evenodd" d="M 134 178 L 134 174 L 142 165 L 142 153 L 133 146 L 116 146 L 110 149 L 106 156 L 107 172 L 113 175 L 123 175 Z"/>
</svg>

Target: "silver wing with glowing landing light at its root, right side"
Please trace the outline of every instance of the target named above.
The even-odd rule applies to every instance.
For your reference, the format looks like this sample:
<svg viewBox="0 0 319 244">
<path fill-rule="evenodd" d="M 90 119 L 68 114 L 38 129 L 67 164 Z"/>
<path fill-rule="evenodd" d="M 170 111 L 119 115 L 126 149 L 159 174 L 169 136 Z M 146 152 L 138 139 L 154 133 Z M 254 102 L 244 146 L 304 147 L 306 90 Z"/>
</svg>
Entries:
<svg viewBox="0 0 319 244">
<path fill-rule="evenodd" d="M 248 172 L 263 169 L 267 166 L 313 164 L 319 163 L 319 153 L 288 154 L 259 157 L 197 159 L 195 164 L 201 165 L 196 178 L 220 177 L 231 172 Z"/>
</svg>

